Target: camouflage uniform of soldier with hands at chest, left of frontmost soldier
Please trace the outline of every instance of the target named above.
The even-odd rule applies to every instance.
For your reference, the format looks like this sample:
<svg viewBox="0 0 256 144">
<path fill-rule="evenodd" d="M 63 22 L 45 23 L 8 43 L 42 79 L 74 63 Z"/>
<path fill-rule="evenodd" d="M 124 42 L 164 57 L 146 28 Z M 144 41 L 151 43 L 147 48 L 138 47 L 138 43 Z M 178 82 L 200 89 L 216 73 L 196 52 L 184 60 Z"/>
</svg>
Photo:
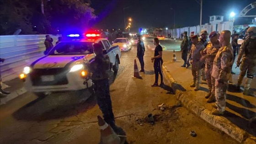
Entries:
<svg viewBox="0 0 256 144">
<path fill-rule="evenodd" d="M 213 95 L 213 97 L 215 96 L 215 79 L 211 76 L 211 73 L 213 70 L 214 58 L 220 47 L 221 44 L 219 41 L 216 44 L 208 42 L 208 45 L 203 50 L 203 53 L 206 54 L 202 57 L 202 59 L 205 61 L 205 74 L 209 89 L 209 94 L 206 96 L 206 98 L 208 98 L 210 95 Z"/>
</svg>

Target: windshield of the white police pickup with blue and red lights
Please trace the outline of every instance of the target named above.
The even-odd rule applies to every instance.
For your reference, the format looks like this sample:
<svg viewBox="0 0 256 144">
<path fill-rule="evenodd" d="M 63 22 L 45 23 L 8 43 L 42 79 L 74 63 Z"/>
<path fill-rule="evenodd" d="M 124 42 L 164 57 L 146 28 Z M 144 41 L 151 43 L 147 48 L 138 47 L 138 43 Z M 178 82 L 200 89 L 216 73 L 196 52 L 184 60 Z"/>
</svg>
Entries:
<svg viewBox="0 0 256 144">
<path fill-rule="evenodd" d="M 50 51 L 50 55 L 75 55 L 93 53 L 92 42 L 60 42 Z"/>
</svg>

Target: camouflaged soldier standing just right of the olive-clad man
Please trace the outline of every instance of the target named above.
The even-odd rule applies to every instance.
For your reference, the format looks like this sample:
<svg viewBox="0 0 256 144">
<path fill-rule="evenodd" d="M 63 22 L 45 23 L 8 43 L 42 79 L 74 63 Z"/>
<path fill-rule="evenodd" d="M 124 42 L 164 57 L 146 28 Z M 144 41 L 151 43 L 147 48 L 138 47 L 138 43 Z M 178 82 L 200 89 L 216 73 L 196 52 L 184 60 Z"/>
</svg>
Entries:
<svg viewBox="0 0 256 144">
<path fill-rule="evenodd" d="M 203 51 L 204 46 L 202 43 L 198 41 L 197 35 L 192 36 L 191 39 L 193 44 L 191 46 L 189 57 L 191 58 L 191 64 L 192 64 L 193 84 L 190 85 L 190 87 L 195 87 L 194 91 L 198 91 L 200 88 L 199 81 L 201 77 L 201 67 L 202 67 L 200 58 L 201 58 L 201 51 Z"/>
</svg>

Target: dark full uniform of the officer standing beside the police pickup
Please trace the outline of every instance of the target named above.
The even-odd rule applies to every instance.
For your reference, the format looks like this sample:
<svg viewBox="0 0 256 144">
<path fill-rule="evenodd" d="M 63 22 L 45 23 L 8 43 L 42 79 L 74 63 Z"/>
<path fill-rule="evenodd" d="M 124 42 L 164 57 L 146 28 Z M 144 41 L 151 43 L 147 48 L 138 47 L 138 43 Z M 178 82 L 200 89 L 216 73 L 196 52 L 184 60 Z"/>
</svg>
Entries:
<svg viewBox="0 0 256 144">
<path fill-rule="evenodd" d="M 101 109 L 104 120 L 111 126 L 115 126 L 115 119 L 112 112 L 112 102 L 109 92 L 109 76 L 107 73 L 107 71 L 110 70 L 109 57 L 103 54 L 96 55 L 95 59 L 88 64 L 88 68 L 92 73 L 91 80 L 95 84 L 97 104 Z"/>
</svg>

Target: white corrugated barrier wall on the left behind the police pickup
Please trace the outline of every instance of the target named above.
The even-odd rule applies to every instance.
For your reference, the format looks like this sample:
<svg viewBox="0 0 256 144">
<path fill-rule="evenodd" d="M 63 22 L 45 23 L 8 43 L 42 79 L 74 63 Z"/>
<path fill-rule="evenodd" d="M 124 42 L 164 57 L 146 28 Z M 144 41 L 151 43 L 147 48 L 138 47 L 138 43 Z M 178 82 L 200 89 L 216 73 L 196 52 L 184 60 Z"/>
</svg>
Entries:
<svg viewBox="0 0 256 144">
<path fill-rule="evenodd" d="M 53 45 L 59 35 L 53 36 Z M 19 76 L 25 66 L 43 56 L 45 35 L 9 35 L 0 36 L 0 58 L 5 59 L 0 64 L 3 81 Z"/>
</svg>

